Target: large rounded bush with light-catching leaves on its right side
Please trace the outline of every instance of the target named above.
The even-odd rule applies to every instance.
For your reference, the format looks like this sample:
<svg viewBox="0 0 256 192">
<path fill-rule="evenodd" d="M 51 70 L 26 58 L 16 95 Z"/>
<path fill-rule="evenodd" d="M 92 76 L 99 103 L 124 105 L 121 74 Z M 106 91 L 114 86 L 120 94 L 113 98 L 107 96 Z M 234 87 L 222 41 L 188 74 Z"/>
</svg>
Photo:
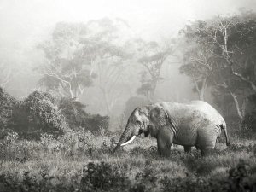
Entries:
<svg viewBox="0 0 256 192">
<path fill-rule="evenodd" d="M 12 120 L 20 137 L 38 139 L 43 132 L 60 135 L 67 131 L 66 121 L 49 93 L 34 91 L 15 106 Z"/>
</svg>

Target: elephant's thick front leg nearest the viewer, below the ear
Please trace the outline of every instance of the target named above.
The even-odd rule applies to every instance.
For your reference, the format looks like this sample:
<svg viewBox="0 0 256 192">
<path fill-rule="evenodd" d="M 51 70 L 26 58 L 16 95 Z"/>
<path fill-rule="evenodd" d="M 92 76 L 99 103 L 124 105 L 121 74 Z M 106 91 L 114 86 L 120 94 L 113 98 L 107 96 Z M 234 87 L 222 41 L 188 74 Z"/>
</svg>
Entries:
<svg viewBox="0 0 256 192">
<path fill-rule="evenodd" d="M 158 153 L 163 156 L 170 156 L 171 146 L 173 141 L 173 132 L 167 126 L 160 128 L 158 137 L 157 137 L 157 148 Z"/>
</svg>

